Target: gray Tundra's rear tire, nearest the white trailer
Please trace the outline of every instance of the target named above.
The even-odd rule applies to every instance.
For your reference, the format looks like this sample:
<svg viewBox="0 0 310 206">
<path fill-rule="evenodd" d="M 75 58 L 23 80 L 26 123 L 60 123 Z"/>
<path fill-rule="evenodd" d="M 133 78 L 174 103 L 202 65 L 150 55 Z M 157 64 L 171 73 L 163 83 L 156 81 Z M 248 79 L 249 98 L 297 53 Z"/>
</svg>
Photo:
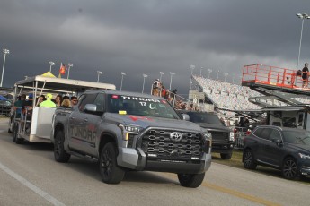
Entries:
<svg viewBox="0 0 310 206">
<path fill-rule="evenodd" d="M 64 148 L 65 134 L 62 130 L 58 130 L 55 136 L 54 142 L 54 158 L 58 162 L 68 162 L 70 154 L 66 153 Z"/>
</svg>

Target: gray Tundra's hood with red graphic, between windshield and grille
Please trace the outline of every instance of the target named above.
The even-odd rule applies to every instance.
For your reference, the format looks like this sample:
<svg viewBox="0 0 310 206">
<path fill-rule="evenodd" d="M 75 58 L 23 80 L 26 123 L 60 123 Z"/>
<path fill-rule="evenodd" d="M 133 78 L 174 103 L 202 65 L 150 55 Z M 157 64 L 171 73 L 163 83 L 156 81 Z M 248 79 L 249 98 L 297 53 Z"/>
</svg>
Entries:
<svg viewBox="0 0 310 206">
<path fill-rule="evenodd" d="M 119 124 L 137 125 L 142 128 L 147 127 L 164 127 L 180 130 L 193 130 L 202 132 L 203 130 L 199 124 L 191 123 L 189 121 L 180 119 L 158 118 L 154 116 L 131 116 L 119 114 L 106 114 L 107 119 L 117 121 Z"/>
</svg>

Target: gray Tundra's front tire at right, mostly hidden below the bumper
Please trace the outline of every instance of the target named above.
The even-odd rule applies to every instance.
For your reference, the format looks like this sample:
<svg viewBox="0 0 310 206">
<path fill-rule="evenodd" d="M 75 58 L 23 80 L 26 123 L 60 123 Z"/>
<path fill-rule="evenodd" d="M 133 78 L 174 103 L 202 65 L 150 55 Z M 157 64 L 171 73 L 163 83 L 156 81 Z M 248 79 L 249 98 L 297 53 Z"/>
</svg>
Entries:
<svg viewBox="0 0 310 206">
<path fill-rule="evenodd" d="M 203 179 L 205 178 L 205 173 L 201 174 L 178 174 L 179 182 L 182 186 L 196 188 L 201 185 Z"/>
</svg>

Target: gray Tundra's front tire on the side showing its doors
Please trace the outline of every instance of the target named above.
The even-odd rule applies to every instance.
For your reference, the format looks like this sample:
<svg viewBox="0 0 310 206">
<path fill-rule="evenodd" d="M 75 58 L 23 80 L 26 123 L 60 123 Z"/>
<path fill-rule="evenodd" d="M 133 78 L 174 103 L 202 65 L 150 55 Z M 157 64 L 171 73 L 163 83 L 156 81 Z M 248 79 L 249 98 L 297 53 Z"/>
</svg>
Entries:
<svg viewBox="0 0 310 206">
<path fill-rule="evenodd" d="M 99 158 L 99 171 L 102 181 L 107 184 L 119 184 L 125 171 L 117 165 L 116 147 L 112 142 L 105 144 Z"/>
</svg>

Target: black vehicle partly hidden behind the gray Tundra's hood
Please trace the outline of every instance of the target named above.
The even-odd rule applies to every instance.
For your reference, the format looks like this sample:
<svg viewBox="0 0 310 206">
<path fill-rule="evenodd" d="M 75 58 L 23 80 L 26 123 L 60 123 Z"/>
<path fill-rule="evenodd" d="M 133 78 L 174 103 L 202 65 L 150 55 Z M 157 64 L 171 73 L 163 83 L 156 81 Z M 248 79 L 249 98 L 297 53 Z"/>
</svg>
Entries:
<svg viewBox="0 0 310 206">
<path fill-rule="evenodd" d="M 199 124 L 212 134 L 212 152 L 220 153 L 221 159 L 231 159 L 234 149 L 234 132 L 226 127 L 214 113 L 180 110 L 190 116 L 190 122 Z"/>
</svg>

